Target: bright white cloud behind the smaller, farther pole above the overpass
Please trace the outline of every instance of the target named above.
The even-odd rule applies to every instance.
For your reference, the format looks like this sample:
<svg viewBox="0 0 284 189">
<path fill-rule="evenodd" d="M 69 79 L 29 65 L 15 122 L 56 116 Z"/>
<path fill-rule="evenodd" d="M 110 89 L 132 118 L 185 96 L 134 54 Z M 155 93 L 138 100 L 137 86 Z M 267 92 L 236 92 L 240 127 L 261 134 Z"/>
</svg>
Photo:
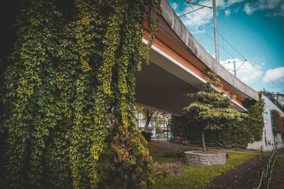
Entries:
<svg viewBox="0 0 284 189">
<path fill-rule="evenodd" d="M 239 70 L 236 71 L 236 77 L 245 84 L 253 84 L 253 82 L 259 80 L 263 76 L 263 71 L 261 71 L 261 69 L 263 68 L 264 64 L 256 64 L 253 66 L 251 62 L 244 62 L 240 59 L 226 59 L 220 63 L 224 64 L 223 67 L 227 68 L 231 74 L 234 74 L 234 71 L 232 71 L 234 70 L 234 61 L 236 61 L 236 69 L 239 68 Z M 225 64 L 228 62 L 231 62 L 231 64 Z"/>
</svg>

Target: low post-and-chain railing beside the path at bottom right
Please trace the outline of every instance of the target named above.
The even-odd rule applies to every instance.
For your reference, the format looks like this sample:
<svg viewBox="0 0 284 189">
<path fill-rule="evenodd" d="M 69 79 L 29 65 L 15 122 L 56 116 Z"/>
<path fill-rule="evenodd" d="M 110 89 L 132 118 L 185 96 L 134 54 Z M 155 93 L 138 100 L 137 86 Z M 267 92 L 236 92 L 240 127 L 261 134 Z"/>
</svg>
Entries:
<svg viewBox="0 0 284 189">
<path fill-rule="evenodd" d="M 251 187 L 252 189 L 259 189 L 259 188 L 263 189 L 265 186 L 267 186 L 268 189 L 270 188 L 271 176 L 277 158 L 278 158 L 278 149 L 277 147 L 275 147 L 275 150 L 273 149 L 271 155 L 269 156 L 268 162 L 266 164 L 265 173 L 264 171 L 261 171 L 261 181 L 259 182 L 258 187 L 257 188 Z"/>
</svg>

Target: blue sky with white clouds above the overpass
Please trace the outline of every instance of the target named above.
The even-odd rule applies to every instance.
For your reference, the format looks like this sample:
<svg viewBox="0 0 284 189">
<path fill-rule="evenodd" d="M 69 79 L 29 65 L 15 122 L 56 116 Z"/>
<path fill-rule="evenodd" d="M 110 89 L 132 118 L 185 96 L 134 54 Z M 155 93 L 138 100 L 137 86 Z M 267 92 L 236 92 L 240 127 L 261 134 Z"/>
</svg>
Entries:
<svg viewBox="0 0 284 189">
<path fill-rule="evenodd" d="M 185 0 L 168 2 L 178 15 L 200 8 L 186 4 Z M 212 6 L 212 0 L 191 2 Z M 238 68 L 244 63 L 236 72 L 241 81 L 256 91 L 266 88 L 284 93 L 284 0 L 216 0 L 216 3 L 221 64 L 235 60 Z M 181 20 L 214 57 L 212 9 L 202 8 Z M 224 64 L 224 67 L 234 66 Z"/>
</svg>

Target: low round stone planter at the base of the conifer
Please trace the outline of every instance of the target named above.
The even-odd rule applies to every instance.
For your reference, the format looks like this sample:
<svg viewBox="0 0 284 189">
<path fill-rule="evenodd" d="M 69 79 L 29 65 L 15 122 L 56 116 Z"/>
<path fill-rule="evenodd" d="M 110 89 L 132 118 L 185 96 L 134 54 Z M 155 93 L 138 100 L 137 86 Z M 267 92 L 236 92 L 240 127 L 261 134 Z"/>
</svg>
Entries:
<svg viewBox="0 0 284 189">
<path fill-rule="evenodd" d="M 213 166 L 226 164 L 226 153 L 217 151 L 185 151 L 185 164 Z"/>
</svg>

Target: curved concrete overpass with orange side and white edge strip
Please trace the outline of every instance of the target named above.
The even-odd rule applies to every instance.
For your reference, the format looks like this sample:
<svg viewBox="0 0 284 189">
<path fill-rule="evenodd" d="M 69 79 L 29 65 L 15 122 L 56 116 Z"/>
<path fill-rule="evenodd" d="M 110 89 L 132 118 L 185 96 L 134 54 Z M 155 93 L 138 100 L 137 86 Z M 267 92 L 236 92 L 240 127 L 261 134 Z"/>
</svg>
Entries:
<svg viewBox="0 0 284 189">
<path fill-rule="evenodd" d="M 204 72 L 214 69 L 224 88 L 234 94 L 234 108 L 246 111 L 245 98 L 258 100 L 258 93 L 224 69 L 183 25 L 168 1 L 161 1 L 159 30 L 150 52 L 150 64 L 136 73 L 136 103 L 173 115 L 182 115 L 190 103 L 186 93 L 202 90 Z M 143 43 L 147 44 L 148 28 L 143 23 Z M 192 100 L 191 100 L 192 101 Z"/>
</svg>

